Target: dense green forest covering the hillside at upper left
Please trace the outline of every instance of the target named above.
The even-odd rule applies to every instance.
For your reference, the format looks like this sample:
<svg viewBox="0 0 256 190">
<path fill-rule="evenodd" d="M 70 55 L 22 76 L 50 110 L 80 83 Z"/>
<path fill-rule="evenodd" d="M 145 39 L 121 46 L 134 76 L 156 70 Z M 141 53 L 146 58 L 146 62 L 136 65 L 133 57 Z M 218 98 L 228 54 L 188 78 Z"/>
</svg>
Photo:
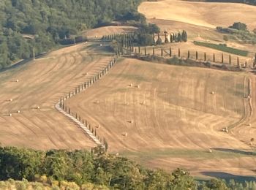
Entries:
<svg viewBox="0 0 256 190">
<path fill-rule="evenodd" d="M 1 0 L 0 69 L 31 57 L 33 48 L 38 55 L 86 28 L 105 26 L 113 20 L 145 20 L 137 12 L 140 1 Z"/>
</svg>

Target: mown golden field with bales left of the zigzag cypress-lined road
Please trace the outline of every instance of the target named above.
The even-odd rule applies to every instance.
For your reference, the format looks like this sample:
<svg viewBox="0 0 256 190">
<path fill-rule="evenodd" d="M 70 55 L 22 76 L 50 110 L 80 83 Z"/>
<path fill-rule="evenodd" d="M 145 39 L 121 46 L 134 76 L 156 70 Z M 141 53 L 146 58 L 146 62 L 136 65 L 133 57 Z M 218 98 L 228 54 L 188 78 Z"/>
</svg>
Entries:
<svg viewBox="0 0 256 190">
<path fill-rule="evenodd" d="M 65 47 L 1 72 L 1 144 L 36 149 L 95 146 L 54 105 L 108 64 L 112 56 L 99 53 L 99 48 L 104 47 L 97 44 Z"/>
</svg>

